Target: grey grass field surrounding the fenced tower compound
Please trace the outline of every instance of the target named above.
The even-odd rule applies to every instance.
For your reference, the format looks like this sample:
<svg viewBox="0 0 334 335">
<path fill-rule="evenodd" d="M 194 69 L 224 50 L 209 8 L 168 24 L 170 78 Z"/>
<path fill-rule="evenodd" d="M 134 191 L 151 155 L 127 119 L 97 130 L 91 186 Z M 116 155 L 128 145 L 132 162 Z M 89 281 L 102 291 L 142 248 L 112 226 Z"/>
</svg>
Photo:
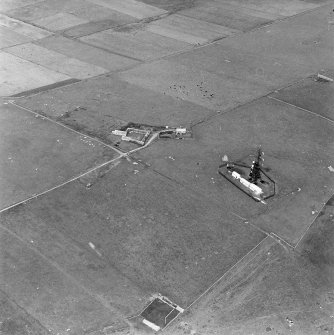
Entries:
<svg viewBox="0 0 334 335">
<path fill-rule="evenodd" d="M 193 132 L 193 142 L 159 141 L 136 157 L 292 244 L 334 190 L 328 169 L 333 166 L 333 125 L 315 115 L 263 98 L 199 124 Z M 262 145 L 265 167 L 277 183 L 278 196 L 267 205 L 217 174 L 225 154 L 244 159 L 257 145 Z"/>
</svg>

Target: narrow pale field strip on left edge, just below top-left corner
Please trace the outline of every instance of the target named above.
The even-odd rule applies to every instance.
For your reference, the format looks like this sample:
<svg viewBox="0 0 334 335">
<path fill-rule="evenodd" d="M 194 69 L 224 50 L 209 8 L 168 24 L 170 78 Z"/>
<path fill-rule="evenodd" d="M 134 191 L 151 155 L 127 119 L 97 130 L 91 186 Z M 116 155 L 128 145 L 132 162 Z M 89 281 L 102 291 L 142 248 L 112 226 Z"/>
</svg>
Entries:
<svg viewBox="0 0 334 335">
<path fill-rule="evenodd" d="M 50 36 L 51 33 L 41 28 L 32 26 L 31 24 L 15 20 L 7 15 L 0 14 L 0 25 L 15 31 L 18 34 L 29 37 L 33 40 Z"/>
</svg>

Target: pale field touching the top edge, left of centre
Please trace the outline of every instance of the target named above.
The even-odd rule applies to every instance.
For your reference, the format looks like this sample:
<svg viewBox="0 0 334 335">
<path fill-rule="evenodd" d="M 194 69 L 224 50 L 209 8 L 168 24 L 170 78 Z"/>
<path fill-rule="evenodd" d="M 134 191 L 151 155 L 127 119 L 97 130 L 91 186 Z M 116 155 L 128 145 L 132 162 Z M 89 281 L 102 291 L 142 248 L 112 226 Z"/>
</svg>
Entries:
<svg viewBox="0 0 334 335">
<path fill-rule="evenodd" d="M 145 19 L 152 16 L 166 14 L 167 12 L 158 7 L 146 5 L 140 1 L 135 0 L 89 0 L 99 6 L 113 9 L 117 12 L 133 16 L 137 19 Z"/>
</svg>

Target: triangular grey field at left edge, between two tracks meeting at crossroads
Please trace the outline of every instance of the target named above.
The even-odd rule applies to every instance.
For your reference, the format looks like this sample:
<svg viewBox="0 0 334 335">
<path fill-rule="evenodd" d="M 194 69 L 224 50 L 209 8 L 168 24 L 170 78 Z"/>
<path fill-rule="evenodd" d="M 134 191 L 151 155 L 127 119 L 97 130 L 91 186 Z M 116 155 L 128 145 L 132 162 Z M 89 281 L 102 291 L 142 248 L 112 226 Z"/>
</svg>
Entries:
<svg viewBox="0 0 334 335">
<path fill-rule="evenodd" d="M 1 208 L 59 185 L 115 155 L 102 144 L 13 105 L 3 104 L 0 116 Z"/>
</svg>

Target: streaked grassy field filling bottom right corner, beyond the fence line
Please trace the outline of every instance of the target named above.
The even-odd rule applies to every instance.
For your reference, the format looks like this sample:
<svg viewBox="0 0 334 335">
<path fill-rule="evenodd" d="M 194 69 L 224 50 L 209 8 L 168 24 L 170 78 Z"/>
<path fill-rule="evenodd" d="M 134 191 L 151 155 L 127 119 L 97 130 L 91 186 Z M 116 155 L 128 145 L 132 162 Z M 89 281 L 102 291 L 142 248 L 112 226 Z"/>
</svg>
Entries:
<svg viewBox="0 0 334 335">
<path fill-rule="evenodd" d="M 298 247 L 260 250 L 170 334 L 333 334 L 332 199 Z"/>
</svg>

